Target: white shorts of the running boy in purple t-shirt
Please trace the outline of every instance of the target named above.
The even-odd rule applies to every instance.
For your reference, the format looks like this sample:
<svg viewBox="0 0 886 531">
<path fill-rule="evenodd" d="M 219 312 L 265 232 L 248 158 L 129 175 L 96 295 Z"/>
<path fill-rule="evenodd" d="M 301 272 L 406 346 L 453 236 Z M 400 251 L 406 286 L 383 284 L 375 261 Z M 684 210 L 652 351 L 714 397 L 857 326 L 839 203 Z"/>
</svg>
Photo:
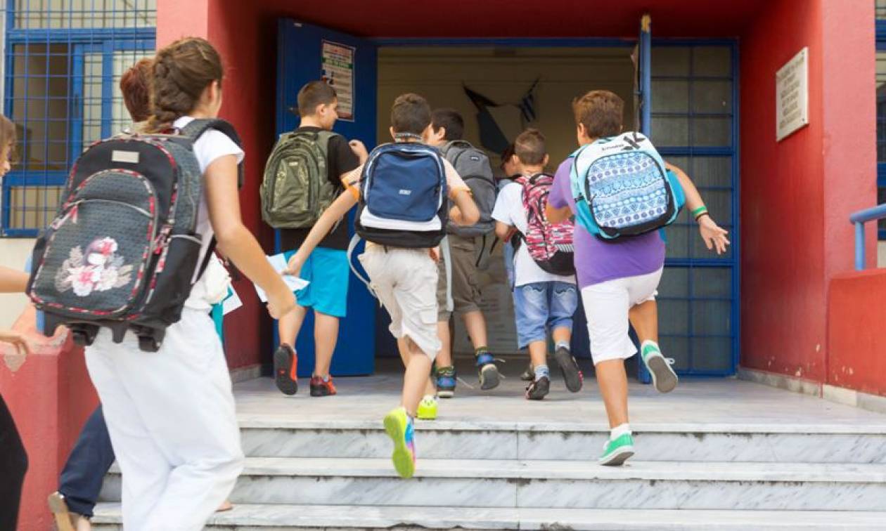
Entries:
<svg viewBox="0 0 886 531">
<path fill-rule="evenodd" d="M 633 306 L 656 300 L 663 269 L 581 289 L 591 339 L 594 365 L 610 359 L 627 359 L 637 352 L 628 335 L 628 312 Z"/>
</svg>

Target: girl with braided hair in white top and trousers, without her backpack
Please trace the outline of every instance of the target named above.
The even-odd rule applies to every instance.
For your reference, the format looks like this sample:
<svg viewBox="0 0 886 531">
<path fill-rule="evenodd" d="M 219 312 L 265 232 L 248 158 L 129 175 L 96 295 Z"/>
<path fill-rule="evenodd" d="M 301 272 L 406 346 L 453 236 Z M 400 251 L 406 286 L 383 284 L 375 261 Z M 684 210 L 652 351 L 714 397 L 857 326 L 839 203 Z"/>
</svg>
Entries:
<svg viewBox="0 0 886 531">
<path fill-rule="evenodd" d="M 216 118 L 223 72 L 221 57 L 204 39 L 182 39 L 159 50 L 147 131 Z M 266 290 L 271 317 L 291 312 L 292 292 L 240 218 L 237 163 L 243 150 L 213 129 L 194 142 L 194 154 L 206 183 L 197 225 L 202 252 L 214 234 L 219 251 Z M 86 348 L 122 472 L 128 530 L 202 529 L 243 470 L 228 366 L 199 287 L 155 355 L 145 355 L 135 335 L 114 343 L 106 328 Z"/>
</svg>

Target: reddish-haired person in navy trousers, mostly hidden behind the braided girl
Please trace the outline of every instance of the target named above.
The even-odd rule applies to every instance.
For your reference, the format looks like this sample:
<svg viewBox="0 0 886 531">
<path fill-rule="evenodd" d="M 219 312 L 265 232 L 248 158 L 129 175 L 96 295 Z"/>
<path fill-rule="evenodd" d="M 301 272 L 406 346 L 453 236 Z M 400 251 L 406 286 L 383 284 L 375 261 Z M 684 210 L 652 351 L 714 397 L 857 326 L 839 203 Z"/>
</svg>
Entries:
<svg viewBox="0 0 886 531">
<path fill-rule="evenodd" d="M 139 132 L 151 116 L 149 86 L 153 60 L 144 58 L 120 76 L 120 94 L 133 121 L 131 132 Z M 89 531 L 90 519 L 98 503 L 105 475 L 114 462 L 111 437 L 108 435 L 102 406 L 89 415 L 74 449 L 65 462 L 58 481 L 58 491 L 49 497 L 58 531 Z M 225 501 L 219 511 L 228 511 Z"/>
</svg>

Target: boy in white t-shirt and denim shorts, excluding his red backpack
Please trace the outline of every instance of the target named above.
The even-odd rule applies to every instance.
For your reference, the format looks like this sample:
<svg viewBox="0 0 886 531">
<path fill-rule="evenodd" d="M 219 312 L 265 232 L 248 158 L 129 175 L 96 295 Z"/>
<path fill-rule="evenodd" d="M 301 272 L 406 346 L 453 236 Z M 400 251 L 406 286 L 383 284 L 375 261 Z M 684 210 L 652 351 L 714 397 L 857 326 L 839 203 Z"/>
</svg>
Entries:
<svg viewBox="0 0 886 531">
<path fill-rule="evenodd" d="M 514 142 L 513 161 L 525 178 L 544 173 L 548 165 L 545 137 L 538 129 L 526 129 Z M 523 203 L 523 185 L 511 182 L 501 189 L 495 201 L 495 235 L 503 241 L 526 235 L 528 212 Z M 519 235 L 515 235 L 514 231 Z M 550 389 L 548 371 L 548 330 L 554 338 L 555 358 L 563 373 L 566 388 L 581 389 L 579 366 L 572 358 L 572 315 L 579 306 L 575 275 L 562 276 L 541 269 L 532 260 L 525 242 L 514 258 L 514 317 L 517 325 L 517 349 L 529 349 L 533 378 L 526 398 L 541 400 Z"/>
</svg>

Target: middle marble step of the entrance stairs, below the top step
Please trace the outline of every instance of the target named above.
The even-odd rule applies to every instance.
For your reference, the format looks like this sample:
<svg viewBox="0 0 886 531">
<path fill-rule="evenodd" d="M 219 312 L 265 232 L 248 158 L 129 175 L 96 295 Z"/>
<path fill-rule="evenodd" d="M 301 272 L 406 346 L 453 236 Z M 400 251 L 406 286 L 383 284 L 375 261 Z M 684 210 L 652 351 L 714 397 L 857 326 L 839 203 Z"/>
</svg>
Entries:
<svg viewBox="0 0 886 531">
<path fill-rule="evenodd" d="M 120 476 L 103 500 L 120 500 Z M 388 459 L 247 458 L 235 504 L 434 505 L 571 509 L 879 511 L 886 465 L 420 459 L 396 477 Z"/>
</svg>

